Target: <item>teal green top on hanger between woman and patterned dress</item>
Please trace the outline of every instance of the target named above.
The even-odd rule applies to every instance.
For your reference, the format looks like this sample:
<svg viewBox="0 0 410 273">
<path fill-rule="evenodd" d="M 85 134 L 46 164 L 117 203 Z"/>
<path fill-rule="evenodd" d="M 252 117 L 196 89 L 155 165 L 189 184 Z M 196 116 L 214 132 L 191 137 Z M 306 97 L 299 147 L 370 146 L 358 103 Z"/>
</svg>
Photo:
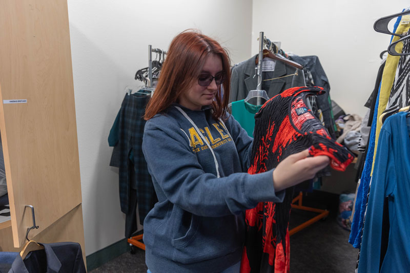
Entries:
<svg viewBox="0 0 410 273">
<path fill-rule="evenodd" d="M 250 137 L 253 137 L 253 130 L 255 128 L 255 114 L 261 107 L 261 105 L 256 106 L 245 102 L 243 99 L 232 102 L 232 115 Z"/>
</svg>

